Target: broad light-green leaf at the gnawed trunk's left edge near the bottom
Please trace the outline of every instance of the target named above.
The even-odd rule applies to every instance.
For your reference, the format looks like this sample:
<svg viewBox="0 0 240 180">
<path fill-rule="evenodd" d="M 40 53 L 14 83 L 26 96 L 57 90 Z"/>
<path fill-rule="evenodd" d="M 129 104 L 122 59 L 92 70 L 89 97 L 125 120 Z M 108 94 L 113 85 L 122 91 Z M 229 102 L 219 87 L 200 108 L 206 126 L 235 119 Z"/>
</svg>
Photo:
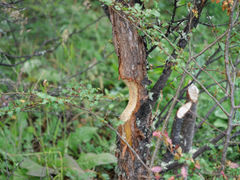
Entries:
<svg viewBox="0 0 240 180">
<path fill-rule="evenodd" d="M 112 164 L 112 163 L 116 163 L 116 162 L 117 162 L 116 157 L 114 155 L 110 154 L 110 153 L 81 154 L 79 159 L 78 159 L 78 164 L 83 169 L 91 169 L 91 168 L 94 168 L 95 166 Z"/>
</svg>

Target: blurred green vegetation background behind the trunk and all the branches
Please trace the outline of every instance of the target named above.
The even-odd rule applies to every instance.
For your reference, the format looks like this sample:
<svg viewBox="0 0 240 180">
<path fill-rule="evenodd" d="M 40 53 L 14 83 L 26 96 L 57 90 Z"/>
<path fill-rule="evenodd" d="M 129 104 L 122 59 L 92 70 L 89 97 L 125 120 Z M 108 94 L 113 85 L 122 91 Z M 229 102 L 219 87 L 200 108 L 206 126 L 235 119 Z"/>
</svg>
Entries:
<svg viewBox="0 0 240 180">
<path fill-rule="evenodd" d="M 182 3 L 179 16 L 185 15 L 188 2 L 179 1 Z M 163 26 L 170 20 L 171 1 L 150 1 L 148 5 L 158 7 Z M 128 90 L 118 80 L 111 24 L 101 3 L 95 0 L 27 0 L 1 1 L 0 6 L 0 179 L 116 178 L 116 131 L 107 124 L 115 129 L 121 124 L 118 117 L 127 104 Z M 209 2 L 207 6 L 208 11 L 202 13 L 201 19 L 210 18 L 212 24 L 228 22 L 229 17 L 220 5 Z M 192 35 L 196 52 L 226 30 L 225 26 L 213 28 L 201 22 Z M 235 42 L 233 51 L 239 53 L 237 31 Z M 167 42 L 164 45 L 167 51 L 171 50 Z M 219 46 L 224 46 L 223 42 L 219 42 Z M 203 65 L 213 52 L 214 49 L 202 55 L 198 63 Z M 182 56 L 187 58 L 187 51 Z M 151 80 L 157 80 L 165 60 L 166 55 L 160 49 L 151 53 L 149 63 L 153 67 L 160 66 L 149 71 Z M 164 88 L 160 110 L 176 92 L 181 65 L 174 68 Z M 222 61 L 217 61 L 208 71 L 219 83 L 225 76 L 222 66 Z M 202 73 L 199 80 L 214 96 L 224 96 L 218 86 L 212 85 L 209 74 Z M 184 84 L 189 80 L 191 77 L 187 77 Z M 239 103 L 239 76 L 236 83 Z M 214 104 L 202 92 L 198 115 L 204 117 Z M 223 106 L 230 109 L 227 102 Z M 173 118 L 174 115 L 170 123 Z M 234 122 L 239 124 L 239 121 L 238 110 Z M 196 132 L 194 148 L 205 145 L 226 127 L 227 117 L 217 108 L 201 131 Z M 238 143 L 239 132 L 237 126 L 234 133 Z M 154 149 L 155 141 L 151 146 Z M 200 168 L 192 168 L 191 179 L 216 178 L 214 172 L 220 165 L 223 141 L 210 146 L 211 151 L 197 159 Z M 228 148 L 227 159 L 229 166 L 224 176 L 217 178 L 239 177 L 239 144 Z M 169 171 L 164 177 L 174 174 Z"/>
</svg>

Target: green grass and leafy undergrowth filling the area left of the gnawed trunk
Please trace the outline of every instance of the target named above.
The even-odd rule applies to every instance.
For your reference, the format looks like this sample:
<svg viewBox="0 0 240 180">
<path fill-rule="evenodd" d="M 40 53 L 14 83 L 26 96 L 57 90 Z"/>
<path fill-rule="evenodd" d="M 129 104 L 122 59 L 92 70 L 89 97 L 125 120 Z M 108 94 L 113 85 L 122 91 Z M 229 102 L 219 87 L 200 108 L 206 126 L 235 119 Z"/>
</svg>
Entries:
<svg viewBox="0 0 240 180">
<path fill-rule="evenodd" d="M 17 6 L 24 7 L 18 17 L 24 24 L 11 23 L 20 28 L 14 32 L 20 46 L 14 46 L 11 34 L 3 36 L 1 52 L 23 56 L 57 48 L 20 66 L 1 67 L 1 80 L 6 81 L 0 81 L 0 179 L 109 179 L 108 170 L 116 165 L 115 134 L 102 117 L 115 126 L 115 107 L 123 95 L 116 90 L 121 83 L 115 82 L 107 18 L 86 29 L 102 15 L 96 9 L 99 2 L 89 7 L 87 1 L 28 1 Z M 3 16 L 14 13 L 9 9 L 1 15 L 1 30 L 9 29 Z M 18 62 L 1 58 L 4 63 Z M 106 65 L 96 68 L 103 62 Z"/>
</svg>

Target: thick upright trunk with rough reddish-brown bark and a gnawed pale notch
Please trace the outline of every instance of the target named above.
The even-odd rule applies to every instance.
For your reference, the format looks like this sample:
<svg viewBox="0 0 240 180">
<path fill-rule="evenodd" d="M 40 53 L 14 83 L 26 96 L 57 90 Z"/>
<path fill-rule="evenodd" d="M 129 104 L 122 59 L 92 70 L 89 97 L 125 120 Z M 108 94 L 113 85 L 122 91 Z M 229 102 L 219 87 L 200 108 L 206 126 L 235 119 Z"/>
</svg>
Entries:
<svg viewBox="0 0 240 180">
<path fill-rule="evenodd" d="M 151 107 L 148 100 L 146 71 L 146 49 L 141 36 L 134 25 L 121 11 L 109 8 L 112 23 L 113 42 L 119 60 L 119 78 L 129 88 L 129 102 L 120 116 L 124 124 L 118 128 L 144 163 L 149 159 L 149 135 Z M 128 148 L 118 139 L 119 179 L 145 179 L 147 169 Z"/>
</svg>

